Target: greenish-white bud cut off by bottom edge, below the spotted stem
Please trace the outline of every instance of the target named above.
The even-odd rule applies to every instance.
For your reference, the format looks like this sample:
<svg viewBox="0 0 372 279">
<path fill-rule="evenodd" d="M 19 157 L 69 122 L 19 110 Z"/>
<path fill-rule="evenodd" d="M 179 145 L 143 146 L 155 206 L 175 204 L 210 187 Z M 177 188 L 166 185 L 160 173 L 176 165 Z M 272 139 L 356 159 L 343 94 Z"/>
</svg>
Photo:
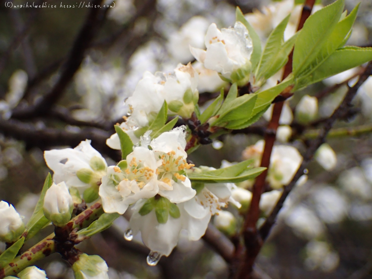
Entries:
<svg viewBox="0 0 372 279">
<path fill-rule="evenodd" d="M 73 264 L 75 279 L 109 279 L 106 262 L 97 255 L 81 254 Z"/>
</svg>

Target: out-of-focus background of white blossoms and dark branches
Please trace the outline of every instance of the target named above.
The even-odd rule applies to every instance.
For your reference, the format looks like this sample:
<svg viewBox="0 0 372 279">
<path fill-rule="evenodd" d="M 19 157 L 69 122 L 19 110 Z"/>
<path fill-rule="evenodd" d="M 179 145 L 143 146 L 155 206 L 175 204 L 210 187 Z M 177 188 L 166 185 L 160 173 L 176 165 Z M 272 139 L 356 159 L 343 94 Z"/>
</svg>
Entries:
<svg viewBox="0 0 372 279">
<path fill-rule="evenodd" d="M 318 1 L 316 7 L 331 2 Z M 372 43 L 372 0 L 361 2 L 349 45 Z M 131 96 L 144 71 L 172 71 L 179 62 L 193 62 L 189 44 L 203 48 L 206 29 L 212 22 L 218 28 L 233 25 L 236 6 L 247 14 L 263 42 L 289 12 L 293 15 L 289 24 L 295 28 L 301 12 L 301 6 L 295 6 L 293 0 L 116 0 L 114 7 L 99 9 L 92 24 L 86 20 L 92 14 L 86 7 L 64 8 L 60 1 L 50 0 L 47 5 L 56 8 L 15 9 L 6 7 L 6 3 L 0 1 L 0 199 L 15 205 L 26 221 L 49 171 L 44 150 L 75 147 L 88 138 L 109 165 L 119 160 L 120 155 L 106 147 L 105 140 L 113 134 L 113 125 L 122 122 L 126 113 L 123 101 Z M 346 0 L 347 10 L 357 3 Z M 12 4 L 26 2 L 14 0 Z M 78 4 L 62 1 L 62 5 Z M 111 2 L 106 4 L 113 6 Z M 63 84 L 65 69 L 74 70 Z M 291 127 L 292 137 L 285 144 L 304 151 L 306 141 L 296 137 L 299 124 L 293 117 L 301 97 L 318 97 L 320 123 L 346 93 L 342 82 L 357 71 L 314 84 L 289 100 L 281 124 Z M 202 68 L 199 72 L 202 107 L 225 84 L 215 73 Z M 63 85 L 62 93 L 47 114 L 17 113 L 17 109 L 58 89 L 58 84 Z M 263 117 L 254 124 L 257 129 L 236 131 L 199 148 L 190 159 L 197 165 L 213 167 L 219 167 L 222 160 L 243 160 L 243 151 L 262 139 L 260 127 L 267 119 Z M 348 121 L 336 126 L 368 126 L 372 125 L 371 119 L 369 78 L 359 89 L 355 111 Z M 312 123 L 312 128 L 319 123 Z M 372 134 L 333 137 L 328 143 L 337 155 L 337 164 L 325 170 L 311 163 L 308 181 L 291 193 L 257 258 L 257 272 L 263 279 L 372 278 Z M 248 184 L 238 186 L 249 189 Z M 241 224 L 237 209 L 227 210 Z M 127 225 L 124 217 L 119 218 L 109 230 L 79 246 L 106 260 L 110 279 L 227 278 L 228 266 L 222 257 L 203 240 L 190 243 L 186 237 L 180 238 L 173 253 L 158 266 L 147 266 L 148 250 L 141 245 L 140 236 L 132 242 L 122 237 Z M 51 226 L 46 228 L 27 245 L 51 231 Z M 0 251 L 4 248 L 1 244 Z M 73 278 L 71 269 L 57 254 L 38 266 L 46 270 L 49 279 Z"/>
</svg>

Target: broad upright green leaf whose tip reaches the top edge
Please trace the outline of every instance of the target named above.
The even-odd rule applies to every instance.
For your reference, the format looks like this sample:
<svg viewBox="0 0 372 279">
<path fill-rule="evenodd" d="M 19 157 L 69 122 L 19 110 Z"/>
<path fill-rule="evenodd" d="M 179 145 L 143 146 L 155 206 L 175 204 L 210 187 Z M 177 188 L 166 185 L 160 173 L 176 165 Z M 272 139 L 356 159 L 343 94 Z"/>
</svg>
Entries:
<svg viewBox="0 0 372 279">
<path fill-rule="evenodd" d="M 301 76 L 317 58 L 320 50 L 327 42 L 339 22 L 344 8 L 344 0 L 324 7 L 311 15 L 297 36 L 293 52 L 293 74 Z M 308 70 L 307 70 L 308 71 Z"/>
</svg>

